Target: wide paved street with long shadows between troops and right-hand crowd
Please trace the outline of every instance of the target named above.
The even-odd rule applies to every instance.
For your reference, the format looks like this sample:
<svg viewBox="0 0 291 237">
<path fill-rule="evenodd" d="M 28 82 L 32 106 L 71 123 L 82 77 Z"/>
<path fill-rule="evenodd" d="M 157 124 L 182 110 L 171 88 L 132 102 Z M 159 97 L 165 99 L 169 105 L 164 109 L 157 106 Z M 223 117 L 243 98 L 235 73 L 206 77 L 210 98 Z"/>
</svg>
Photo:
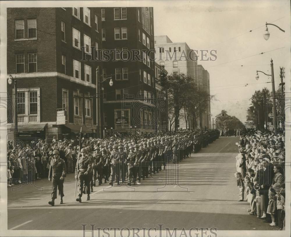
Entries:
<svg viewBox="0 0 291 237">
<path fill-rule="evenodd" d="M 174 177 L 165 185 L 166 171 L 148 178 L 141 185 L 94 187 L 91 200 L 74 198 L 74 175 L 64 184 L 64 204 L 50 201 L 51 183 L 36 182 L 40 188 L 25 185 L 8 188 L 8 229 L 80 230 L 81 224 L 96 227 L 164 227 L 190 229 L 217 227 L 218 230 L 273 230 L 256 216 L 247 216 L 249 203 L 238 202 L 234 177 L 237 137 L 221 137 L 198 154 L 183 160 L 179 167 L 167 167 Z M 179 185 L 175 174 L 179 171 Z M 15 192 L 11 191 L 15 189 Z"/>
</svg>

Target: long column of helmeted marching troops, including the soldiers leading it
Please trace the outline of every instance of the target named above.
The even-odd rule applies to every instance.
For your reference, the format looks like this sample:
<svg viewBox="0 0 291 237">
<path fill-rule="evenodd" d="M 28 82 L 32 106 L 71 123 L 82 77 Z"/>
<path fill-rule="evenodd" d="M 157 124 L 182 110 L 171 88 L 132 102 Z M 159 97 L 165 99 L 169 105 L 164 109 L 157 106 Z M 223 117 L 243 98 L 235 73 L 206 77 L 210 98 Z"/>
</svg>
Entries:
<svg viewBox="0 0 291 237">
<path fill-rule="evenodd" d="M 90 193 L 93 186 L 109 182 L 109 185 L 140 185 L 142 180 L 166 169 L 169 162 L 178 163 L 188 158 L 191 153 L 197 153 L 219 138 L 219 130 L 195 131 L 180 133 L 173 136 L 157 136 L 133 139 L 83 139 L 83 148 L 75 167 L 75 178 L 78 183 L 78 197 L 81 202 L 83 194 Z M 88 146 L 86 146 L 86 145 Z M 68 145 L 72 147 L 71 144 Z M 66 176 L 65 162 L 60 159 L 59 151 L 53 151 L 49 180 L 52 178 L 52 201 L 54 206 L 57 188 L 63 204 L 63 182 Z"/>
</svg>

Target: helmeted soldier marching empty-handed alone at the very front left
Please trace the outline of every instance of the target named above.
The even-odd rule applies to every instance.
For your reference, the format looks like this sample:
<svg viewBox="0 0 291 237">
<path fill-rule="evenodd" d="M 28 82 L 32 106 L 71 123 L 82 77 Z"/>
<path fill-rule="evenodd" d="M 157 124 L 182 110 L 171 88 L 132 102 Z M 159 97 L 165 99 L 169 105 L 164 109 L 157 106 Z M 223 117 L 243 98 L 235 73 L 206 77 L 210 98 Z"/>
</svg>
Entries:
<svg viewBox="0 0 291 237">
<path fill-rule="evenodd" d="M 49 167 L 49 181 L 52 178 L 52 201 L 49 201 L 49 205 L 54 206 L 54 199 L 56 199 L 56 190 L 58 188 L 61 195 L 60 204 L 63 204 L 64 195 L 64 178 L 66 176 L 66 164 L 65 161 L 60 158 L 60 153 L 57 150 L 53 152 L 54 158 L 51 160 Z"/>
</svg>

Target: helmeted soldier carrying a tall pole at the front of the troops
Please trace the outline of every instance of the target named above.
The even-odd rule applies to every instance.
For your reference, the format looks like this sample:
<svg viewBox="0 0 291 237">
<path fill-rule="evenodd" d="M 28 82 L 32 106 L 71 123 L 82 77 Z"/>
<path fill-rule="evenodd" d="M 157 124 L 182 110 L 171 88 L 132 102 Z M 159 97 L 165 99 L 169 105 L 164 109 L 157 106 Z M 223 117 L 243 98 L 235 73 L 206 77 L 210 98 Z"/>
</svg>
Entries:
<svg viewBox="0 0 291 237">
<path fill-rule="evenodd" d="M 81 202 L 81 197 L 83 194 L 83 185 L 85 183 L 87 201 L 90 200 L 90 180 L 91 180 L 91 170 L 92 170 L 92 161 L 91 158 L 87 156 L 87 149 L 81 149 L 81 157 L 76 165 L 75 169 L 75 178 L 78 178 L 79 182 L 79 193 L 76 201 Z"/>
</svg>

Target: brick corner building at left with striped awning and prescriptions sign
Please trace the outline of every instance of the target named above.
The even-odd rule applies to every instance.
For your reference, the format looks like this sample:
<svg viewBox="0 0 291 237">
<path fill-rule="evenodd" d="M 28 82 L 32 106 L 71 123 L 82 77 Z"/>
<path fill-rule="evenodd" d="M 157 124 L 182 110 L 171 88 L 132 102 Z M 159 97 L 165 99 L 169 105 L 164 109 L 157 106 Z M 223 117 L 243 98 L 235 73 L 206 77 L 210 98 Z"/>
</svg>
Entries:
<svg viewBox="0 0 291 237">
<path fill-rule="evenodd" d="M 95 71 L 102 63 L 82 58 L 88 59 L 91 45 L 102 49 L 98 11 L 7 9 L 7 79 L 17 80 L 19 137 L 63 139 L 81 126 L 83 132 L 96 132 Z M 7 92 L 14 98 L 13 83 Z M 10 114 L 8 123 L 13 123 Z M 8 133 L 11 139 L 13 132 Z"/>
</svg>

